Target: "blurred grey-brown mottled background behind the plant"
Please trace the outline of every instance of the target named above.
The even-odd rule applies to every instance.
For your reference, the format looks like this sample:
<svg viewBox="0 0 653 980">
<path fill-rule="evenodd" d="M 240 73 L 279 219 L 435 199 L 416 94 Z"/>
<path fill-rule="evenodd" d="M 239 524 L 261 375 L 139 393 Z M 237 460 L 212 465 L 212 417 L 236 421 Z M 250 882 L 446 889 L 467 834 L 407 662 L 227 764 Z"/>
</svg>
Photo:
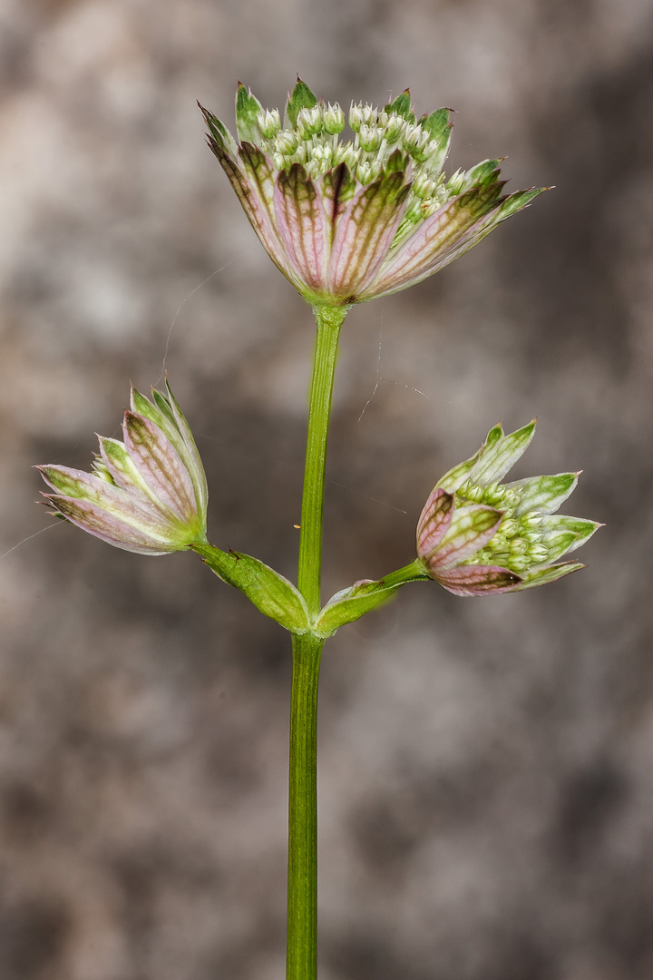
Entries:
<svg viewBox="0 0 653 980">
<path fill-rule="evenodd" d="M 211 540 L 294 575 L 310 313 L 195 100 L 231 124 L 298 72 L 410 85 L 457 110 L 449 170 L 556 185 L 350 313 L 325 596 L 412 559 L 498 418 L 607 523 L 569 579 L 415 585 L 327 645 L 320 977 L 653 976 L 652 54 L 647 0 L 2 0 L 3 980 L 284 975 L 288 635 L 192 555 L 50 527 L 30 466 L 88 466 L 164 365 Z"/>
</svg>

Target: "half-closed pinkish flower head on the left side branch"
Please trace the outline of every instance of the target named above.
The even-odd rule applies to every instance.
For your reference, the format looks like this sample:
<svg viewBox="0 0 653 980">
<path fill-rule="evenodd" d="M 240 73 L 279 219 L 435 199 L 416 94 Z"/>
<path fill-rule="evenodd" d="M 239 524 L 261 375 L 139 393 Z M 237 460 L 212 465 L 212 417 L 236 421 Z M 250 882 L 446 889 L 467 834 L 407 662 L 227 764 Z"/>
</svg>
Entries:
<svg viewBox="0 0 653 980">
<path fill-rule="evenodd" d="M 123 441 L 99 436 L 90 473 L 38 466 L 57 515 L 125 551 L 165 555 L 207 540 L 207 478 L 167 381 L 152 401 L 134 388 Z"/>
</svg>

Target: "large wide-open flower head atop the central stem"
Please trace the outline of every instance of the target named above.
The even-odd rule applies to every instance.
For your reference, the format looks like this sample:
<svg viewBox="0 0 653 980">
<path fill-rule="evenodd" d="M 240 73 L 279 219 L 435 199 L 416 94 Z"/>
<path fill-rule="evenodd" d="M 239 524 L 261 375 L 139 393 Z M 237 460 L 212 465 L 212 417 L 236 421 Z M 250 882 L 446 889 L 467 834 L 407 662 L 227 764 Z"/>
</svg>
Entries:
<svg viewBox="0 0 653 980">
<path fill-rule="evenodd" d="M 207 109 L 209 145 L 274 264 L 313 305 L 349 306 L 443 269 L 546 188 L 504 195 L 500 160 L 450 177 L 448 109 L 416 119 L 406 89 L 346 117 L 298 78 L 282 123 L 239 83 L 238 142 Z"/>
</svg>

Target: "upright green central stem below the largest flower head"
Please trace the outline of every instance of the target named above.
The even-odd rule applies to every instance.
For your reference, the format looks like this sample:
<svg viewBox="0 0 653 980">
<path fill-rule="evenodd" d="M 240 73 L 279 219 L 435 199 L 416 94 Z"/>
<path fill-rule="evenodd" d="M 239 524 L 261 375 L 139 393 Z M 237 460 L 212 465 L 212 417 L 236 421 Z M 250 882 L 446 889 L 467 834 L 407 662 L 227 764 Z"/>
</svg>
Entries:
<svg viewBox="0 0 653 980">
<path fill-rule="evenodd" d="M 314 308 L 298 584 L 311 617 L 320 610 L 322 510 L 338 338 L 347 308 Z M 293 637 L 288 806 L 287 980 L 317 976 L 317 683 L 324 640 Z"/>
</svg>

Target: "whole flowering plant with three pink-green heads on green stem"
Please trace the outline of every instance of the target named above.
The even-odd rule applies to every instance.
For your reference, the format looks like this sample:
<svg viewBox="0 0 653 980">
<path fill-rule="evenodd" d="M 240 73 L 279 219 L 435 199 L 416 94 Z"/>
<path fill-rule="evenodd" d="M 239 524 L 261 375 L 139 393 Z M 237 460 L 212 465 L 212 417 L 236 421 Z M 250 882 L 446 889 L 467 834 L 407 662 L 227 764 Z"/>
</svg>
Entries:
<svg viewBox="0 0 653 980">
<path fill-rule="evenodd" d="M 528 205 L 542 188 L 504 195 L 499 160 L 443 174 L 449 110 L 417 119 L 408 91 L 384 109 L 345 114 L 298 80 L 284 123 L 243 85 L 239 143 L 208 110 L 210 147 L 272 261 L 313 306 L 315 353 L 308 412 L 297 586 L 256 558 L 207 540 L 208 491 L 188 423 L 172 392 L 132 389 L 123 440 L 100 438 L 93 471 L 40 466 L 54 512 L 96 537 L 146 555 L 192 550 L 224 582 L 292 633 L 288 845 L 288 980 L 316 976 L 317 686 L 325 640 L 409 582 L 435 579 L 457 596 L 493 595 L 554 581 L 581 564 L 558 559 L 599 526 L 557 515 L 578 473 L 500 481 L 528 447 L 535 422 L 481 449 L 436 484 L 417 524 L 417 558 L 365 579 L 322 606 L 322 507 L 340 329 L 353 303 L 394 293 L 443 269 Z"/>
</svg>

